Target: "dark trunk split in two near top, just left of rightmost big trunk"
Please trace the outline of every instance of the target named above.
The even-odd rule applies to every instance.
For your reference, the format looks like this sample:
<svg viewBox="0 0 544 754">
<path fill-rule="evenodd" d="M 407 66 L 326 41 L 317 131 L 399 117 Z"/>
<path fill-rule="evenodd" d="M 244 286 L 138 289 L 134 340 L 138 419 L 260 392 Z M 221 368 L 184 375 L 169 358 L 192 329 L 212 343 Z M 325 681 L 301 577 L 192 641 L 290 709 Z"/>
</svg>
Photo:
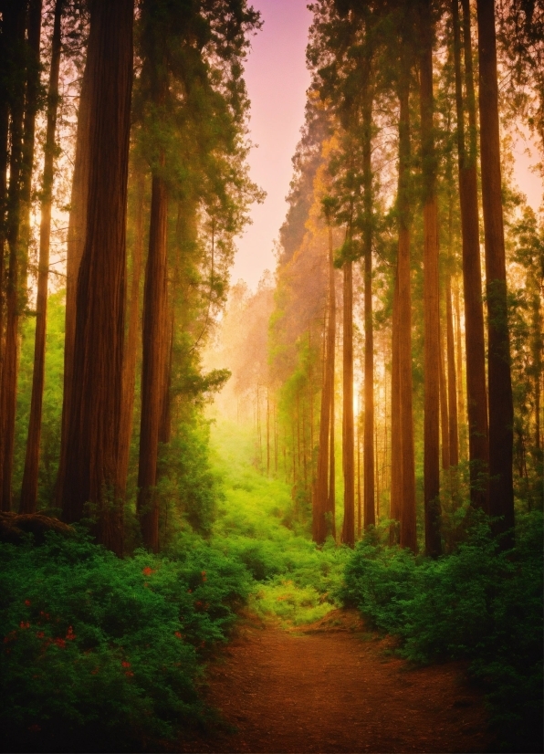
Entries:
<svg viewBox="0 0 544 754">
<path fill-rule="evenodd" d="M 468 413 L 468 456 L 470 461 L 470 500 L 475 508 L 488 510 L 486 474 L 487 392 L 486 345 L 478 219 L 476 176 L 476 97 L 472 68 L 469 0 L 462 0 L 465 47 L 465 84 L 468 110 L 468 149 L 465 139 L 465 106 L 461 77 L 461 44 L 458 0 L 453 0 L 455 101 L 457 110 L 457 152 L 459 155 L 459 194 L 463 234 L 463 293 L 465 298 L 466 399 Z M 459 360 L 458 360 L 459 361 Z M 460 368 L 460 363 L 458 363 Z M 463 386 L 459 384 L 459 390 Z"/>
</svg>

